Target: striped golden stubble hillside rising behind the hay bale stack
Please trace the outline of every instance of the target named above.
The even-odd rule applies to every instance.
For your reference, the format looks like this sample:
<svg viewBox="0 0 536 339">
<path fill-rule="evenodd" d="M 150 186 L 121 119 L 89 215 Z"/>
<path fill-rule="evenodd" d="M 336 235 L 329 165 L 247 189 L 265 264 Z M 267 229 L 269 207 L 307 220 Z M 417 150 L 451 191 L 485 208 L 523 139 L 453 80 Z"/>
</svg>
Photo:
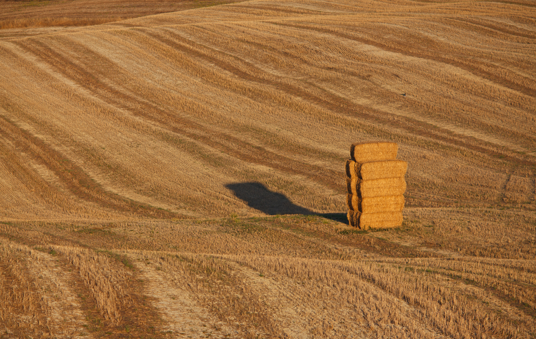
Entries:
<svg viewBox="0 0 536 339">
<path fill-rule="evenodd" d="M 531 8 L 394 7 L 252 2 L 4 41 L 4 147 L 77 208 L 250 215 L 226 185 L 253 181 L 340 212 L 348 145 L 373 139 L 400 143 L 412 205 L 531 203 Z M 13 191 L 5 217 L 41 213 Z"/>
</svg>

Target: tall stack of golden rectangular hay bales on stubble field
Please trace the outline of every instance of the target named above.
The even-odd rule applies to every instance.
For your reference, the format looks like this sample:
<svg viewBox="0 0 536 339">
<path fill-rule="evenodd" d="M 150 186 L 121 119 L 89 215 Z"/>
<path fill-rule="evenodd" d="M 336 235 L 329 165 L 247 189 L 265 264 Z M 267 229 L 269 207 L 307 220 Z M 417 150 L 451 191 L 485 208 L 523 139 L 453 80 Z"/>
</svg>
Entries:
<svg viewBox="0 0 536 339">
<path fill-rule="evenodd" d="M 406 161 L 396 143 L 356 143 L 346 161 L 348 221 L 362 230 L 402 225 Z"/>
</svg>

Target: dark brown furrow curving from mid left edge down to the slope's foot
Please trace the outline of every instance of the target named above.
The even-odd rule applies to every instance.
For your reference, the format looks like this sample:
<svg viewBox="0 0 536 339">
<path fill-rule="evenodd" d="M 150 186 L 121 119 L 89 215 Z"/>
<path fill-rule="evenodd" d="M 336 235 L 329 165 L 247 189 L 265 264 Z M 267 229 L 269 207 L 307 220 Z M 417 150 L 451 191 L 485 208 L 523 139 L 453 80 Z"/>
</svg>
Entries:
<svg viewBox="0 0 536 339">
<path fill-rule="evenodd" d="M 133 212 L 140 216 L 159 218 L 185 217 L 108 193 L 96 184 L 82 168 L 70 161 L 65 161 L 59 152 L 51 149 L 41 139 L 15 126 L 5 117 L 0 117 L 0 135 L 11 141 L 20 151 L 31 154 L 39 163 L 46 165 L 50 171 L 53 171 L 65 183 L 73 195 L 82 200 L 98 203 L 104 208 Z"/>
</svg>

